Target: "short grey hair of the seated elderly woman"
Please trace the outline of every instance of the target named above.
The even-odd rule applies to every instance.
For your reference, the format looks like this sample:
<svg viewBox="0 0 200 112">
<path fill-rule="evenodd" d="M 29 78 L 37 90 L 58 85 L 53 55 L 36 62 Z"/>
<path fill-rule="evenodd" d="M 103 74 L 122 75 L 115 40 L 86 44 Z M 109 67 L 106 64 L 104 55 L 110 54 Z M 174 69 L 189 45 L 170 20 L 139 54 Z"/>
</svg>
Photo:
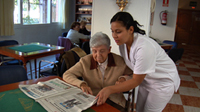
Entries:
<svg viewBox="0 0 200 112">
<path fill-rule="evenodd" d="M 110 38 L 105 33 L 97 32 L 90 39 L 90 48 L 98 47 L 101 45 L 106 45 L 109 49 L 110 48 Z"/>
</svg>

